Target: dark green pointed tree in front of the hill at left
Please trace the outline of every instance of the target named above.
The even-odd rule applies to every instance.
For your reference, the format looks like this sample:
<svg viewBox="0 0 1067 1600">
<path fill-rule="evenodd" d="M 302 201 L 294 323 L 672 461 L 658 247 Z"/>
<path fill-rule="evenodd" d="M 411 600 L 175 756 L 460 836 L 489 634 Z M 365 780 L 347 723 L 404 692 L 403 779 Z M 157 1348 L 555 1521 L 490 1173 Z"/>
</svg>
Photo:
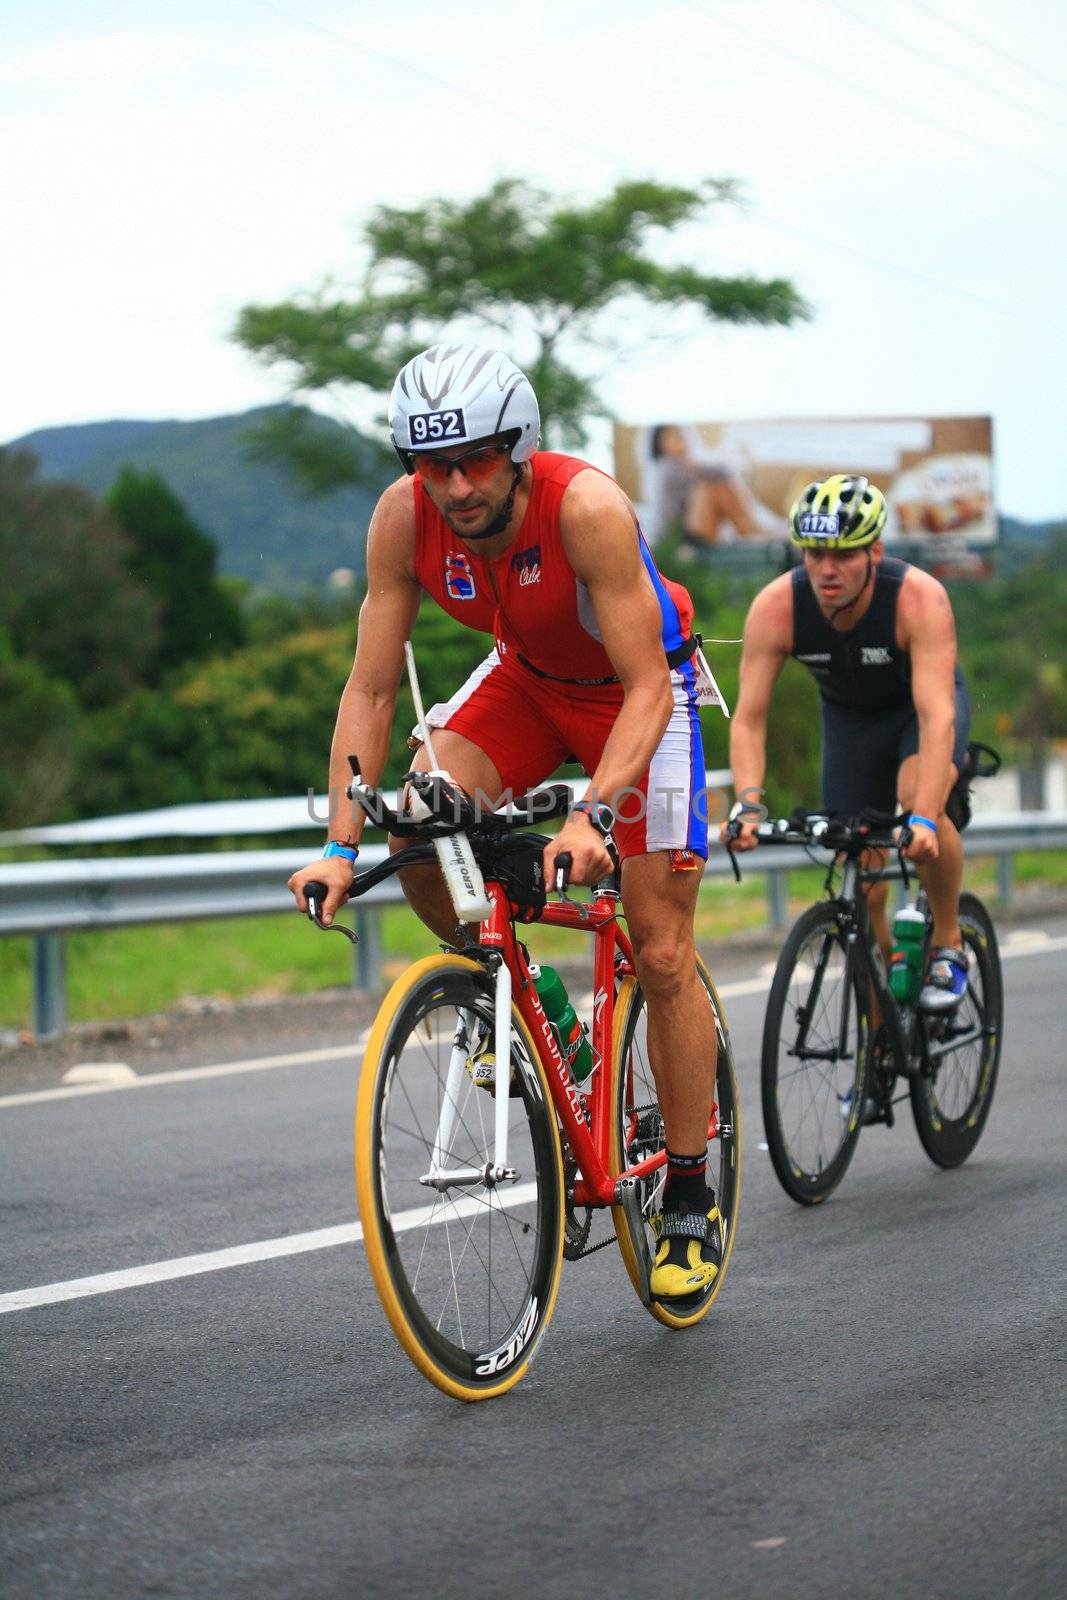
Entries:
<svg viewBox="0 0 1067 1600">
<path fill-rule="evenodd" d="M 123 467 L 106 499 L 130 539 L 126 565 L 158 605 L 152 677 L 240 645 L 242 614 L 218 579 L 218 546 L 158 472 Z"/>
</svg>

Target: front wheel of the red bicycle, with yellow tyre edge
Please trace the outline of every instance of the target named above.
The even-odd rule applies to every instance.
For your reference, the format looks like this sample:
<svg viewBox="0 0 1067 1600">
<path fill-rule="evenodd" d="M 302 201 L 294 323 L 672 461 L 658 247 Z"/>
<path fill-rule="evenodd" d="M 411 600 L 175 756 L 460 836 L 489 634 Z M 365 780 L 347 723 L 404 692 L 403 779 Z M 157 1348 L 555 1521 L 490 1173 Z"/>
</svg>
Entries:
<svg viewBox="0 0 1067 1600">
<path fill-rule="evenodd" d="M 493 1040 L 494 989 L 461 955 L 403 973 L 378 1014 L 355 1107 L 366 1258 L 405 1352 L 445 1394 L 512 1389 L 555 1309 L 563 1165 L 549 1085 L 512 1006 L 507 1168 L 496 1179 L 496 1091 L 470 1062 Z"/>
</svg>

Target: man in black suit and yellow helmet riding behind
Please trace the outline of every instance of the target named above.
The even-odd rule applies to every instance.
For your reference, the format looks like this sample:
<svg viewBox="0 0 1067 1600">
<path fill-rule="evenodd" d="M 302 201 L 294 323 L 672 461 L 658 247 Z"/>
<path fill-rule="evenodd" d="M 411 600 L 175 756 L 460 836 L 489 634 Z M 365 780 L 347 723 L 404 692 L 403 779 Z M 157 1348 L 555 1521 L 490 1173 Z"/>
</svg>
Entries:
<svg viewBox="0 0 1067 1600">
<path fill-rule="evenodd" d="M 822 707 L 822 805 L 841 816 L 910 811 L 915 862 L 934 917 L 920 1003 L 958 1005 L 966 989 L 960 934 L 963 845 L 945 813 L 958 781 L 971 707 L 957 659 L 955 621 L 929 573 L 885 554 L 886 502 L 862 477 L 811 483 L 790 512 L 803 565 L 752 602 L 744 630 L 741 698 L 731 722 L 736 794 L 755 797 L 766 766 L 766 717 L 787 656 L 811 672 Z M 760 808 L 741 808 L 736 850 L 758 840 Z M 886 883 L 869 894 L 888 952 Z"/>
</svg>

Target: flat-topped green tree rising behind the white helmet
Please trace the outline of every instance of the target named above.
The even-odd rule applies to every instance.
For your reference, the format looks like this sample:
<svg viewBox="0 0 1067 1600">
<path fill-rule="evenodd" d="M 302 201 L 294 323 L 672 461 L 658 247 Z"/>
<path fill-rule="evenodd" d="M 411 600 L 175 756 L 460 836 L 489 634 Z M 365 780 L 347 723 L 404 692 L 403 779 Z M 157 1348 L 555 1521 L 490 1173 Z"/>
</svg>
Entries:
<svg viewBox="0 0 1067 1600">
<path fill-rule="evenodd" d="M 713 277 L 662 266 L 646 246 L 734 198 L 731 182 L 678 189 L 617 184 L 590 205 L 560 203 L 515 178 L 470 202 L 437 198 L 413 210 L 379 206 L 366 226 L 368 266 L 354 298 L 331 285 L 277 306 L 246 306 L 235 339 L 293 373 L 294 397 L 370 389 L 384 395 L 400 366 L 426 344 L 472 334 L 506 344 L 537 392 L 549 430 L 584 442 L 603 413 L 595 381 L 573 362 L 582 349 L 622 349 L 619 312 L 688 310 L 694 320 L 789 325 L 808 315 L 785 278 Z M 614 320 L 603 315 L 611 309 Z M 627 338 L 625 346 L 632 347 Z M 366 480 L 366 459 L 315 432 L 306 410 L 275 419 L 262 445 L 318 491 Z"/>
</svg>

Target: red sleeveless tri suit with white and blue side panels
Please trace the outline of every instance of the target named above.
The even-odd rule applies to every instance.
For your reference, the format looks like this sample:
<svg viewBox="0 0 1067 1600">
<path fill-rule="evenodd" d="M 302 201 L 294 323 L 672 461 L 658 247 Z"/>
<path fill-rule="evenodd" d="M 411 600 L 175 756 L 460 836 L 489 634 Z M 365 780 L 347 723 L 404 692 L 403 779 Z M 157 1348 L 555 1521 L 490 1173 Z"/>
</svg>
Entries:
<svg viewBox="0 0 1067 1600">
<path fill-rule="evenodd" d="M 587 773 L 600 762 L 622 706 L 611 658 L 600 643 L 589 592 L 574 574 L 560 538 L 560 502 L 587 461 L 536 451 L 526 515 L 512 544 L 493 560 L 453 533 L 422 480 L 414 478 L 419 584 L 443 611 L 496 643 L 464 686 L 434 706 L 427 722 L 450 728 L 485 750 L 504 789 L 515 795 L 576 757 Z M 662 618 L 662 645 L 685 654 L 693 602 L 664 578 L 645 536 L 633 528 Z M 643 778 L 614 805 L 616 842 L 625 856 L 670 850 L 675 866 L 707 856 L 704 750 L 693 659 L 670 672 L 675 709 Z"/>
</svg>

